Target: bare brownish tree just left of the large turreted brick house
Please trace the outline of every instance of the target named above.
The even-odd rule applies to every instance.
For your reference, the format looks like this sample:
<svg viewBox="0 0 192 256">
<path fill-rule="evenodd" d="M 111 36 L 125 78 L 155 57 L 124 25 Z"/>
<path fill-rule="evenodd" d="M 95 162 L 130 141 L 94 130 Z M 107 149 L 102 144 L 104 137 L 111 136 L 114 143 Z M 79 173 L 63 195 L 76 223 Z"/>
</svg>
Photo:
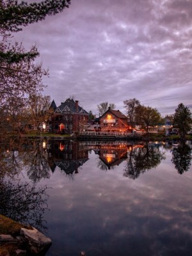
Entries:
<svg viewBox="0 0 192 256">
<path fill-rule="evenodd" d="M 48 118 L 48 111 L 51 105 L 50 96 L 42 96 L 40 93 L 36 93 L 29 96 L 29 116 L 33 124 L 40 133 L 40 125 L 42 125 Z"/>
</svg>

